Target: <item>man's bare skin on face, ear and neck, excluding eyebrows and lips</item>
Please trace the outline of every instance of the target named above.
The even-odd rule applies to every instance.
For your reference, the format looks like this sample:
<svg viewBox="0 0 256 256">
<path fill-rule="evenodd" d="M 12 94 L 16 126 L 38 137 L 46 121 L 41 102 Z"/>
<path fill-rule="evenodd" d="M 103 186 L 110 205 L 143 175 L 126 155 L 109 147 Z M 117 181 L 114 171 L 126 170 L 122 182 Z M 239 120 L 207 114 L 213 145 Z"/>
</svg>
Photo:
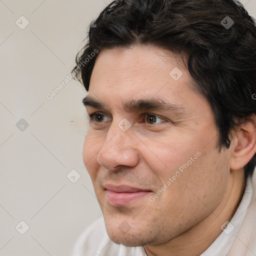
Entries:
<svg viewBox="0 0 256 256">
<path fill-rule="evenodd" d="M 169 75 L 174 67 L 183 73 L 178 80 Z M 201 254 L 235 212 L 244 191 L 243 166 L 256 149 L 252 119 L 231 132 L 229 149 L 218 151 L 211 107 L 192 83 L 180 56 L 152 45 L 104 49 L 92 71 L 88 96 L 106 107 L 86 106 L 89 115 L 99 113 L 101 119 L 90 120 L 83 161 L 110 239 L 144 246 L 148 256 Z M 133 111 L 122 106 L 145 98 L 161 98 L 183 111 Z M 152 123 L 151 115 L 159 118 Z M 126 131 L 118 126 L 123 118 L 131 124 Z M 198 158 L 150 201 L 196 152 Z M 125 206 L 113 206 L 105 183 L 151 192 Z M 118 228 L 123 223 L 125 231 Z"/>
</svg>

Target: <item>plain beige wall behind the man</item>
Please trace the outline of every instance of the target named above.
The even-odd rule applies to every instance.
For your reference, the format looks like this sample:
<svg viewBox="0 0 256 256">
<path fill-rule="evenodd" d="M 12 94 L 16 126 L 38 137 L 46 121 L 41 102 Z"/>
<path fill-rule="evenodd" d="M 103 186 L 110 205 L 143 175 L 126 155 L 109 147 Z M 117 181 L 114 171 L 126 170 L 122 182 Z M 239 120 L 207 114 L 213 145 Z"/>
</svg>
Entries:
<svg viewBox="0 0 256 256">
<path fill-rule="evenodd" d="M 109 2 L 0 0 L 2 256 L 69 255 L 100 216 L 81 154 L 86 91 L 71 80 L 46 95 L 69 75 L 89 22 Z M 256 16 L 256 0 L 241 2 Z"/>
</svg>

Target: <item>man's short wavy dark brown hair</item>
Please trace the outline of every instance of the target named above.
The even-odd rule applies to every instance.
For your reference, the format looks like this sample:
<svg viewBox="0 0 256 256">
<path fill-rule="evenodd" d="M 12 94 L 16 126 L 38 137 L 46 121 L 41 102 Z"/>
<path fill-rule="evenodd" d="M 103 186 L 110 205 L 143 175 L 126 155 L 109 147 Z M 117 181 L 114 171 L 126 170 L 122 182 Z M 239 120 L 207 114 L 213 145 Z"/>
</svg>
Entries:
<svg viewBox="0 0 256 256">
<path fill-rule="evenodd" d="M 211 105 L 219 150 L 230 130 L 256 113 L 255 20 L 236 0 L 115 0 L 92 21 L 73 72 L 88 90 L 96 56 L 104 48 L 153 44 L 188 55 L 187 69 Z M 244 166 L 251 174 L 256 155 Z"/>
</svg>

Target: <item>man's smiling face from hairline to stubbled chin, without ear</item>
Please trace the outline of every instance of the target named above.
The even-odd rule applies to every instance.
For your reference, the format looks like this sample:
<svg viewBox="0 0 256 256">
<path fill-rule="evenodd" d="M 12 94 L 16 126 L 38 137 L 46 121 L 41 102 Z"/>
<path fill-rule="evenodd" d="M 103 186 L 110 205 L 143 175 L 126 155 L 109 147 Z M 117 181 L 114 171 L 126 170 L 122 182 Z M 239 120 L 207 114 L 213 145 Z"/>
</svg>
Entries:
<svg viewBox="0 0 256 256">
<path fill-rule="evenodd" d="M 83 161 L 114 242 L 163 244 L 214 211 L 230 152 L 218 152 L 210 105 L 177 56 L 146 45 L 102 50 L 87 96 L 102 106 L 87 100 L 97 114 Z"/>
</svg>

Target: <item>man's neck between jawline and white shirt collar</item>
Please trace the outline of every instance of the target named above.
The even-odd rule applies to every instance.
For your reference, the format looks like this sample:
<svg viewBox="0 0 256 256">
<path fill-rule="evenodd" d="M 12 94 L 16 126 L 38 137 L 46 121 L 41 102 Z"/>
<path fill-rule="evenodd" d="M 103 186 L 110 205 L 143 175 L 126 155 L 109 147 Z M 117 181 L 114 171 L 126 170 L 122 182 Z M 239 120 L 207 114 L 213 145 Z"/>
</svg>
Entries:
<svg viewBox="0 0 256 256">
<path fill-rule="evenodd" d="M 147 256 L 200 255 L 222 232 L 220 227 L 223 223 L 229 221 L 234 215 L 244 188 L 244 170 L 231 171 L 223 200 L 215 210 L 198 224 L 169 242 L 157 246 L 145 246 Z"/>
</svg>

